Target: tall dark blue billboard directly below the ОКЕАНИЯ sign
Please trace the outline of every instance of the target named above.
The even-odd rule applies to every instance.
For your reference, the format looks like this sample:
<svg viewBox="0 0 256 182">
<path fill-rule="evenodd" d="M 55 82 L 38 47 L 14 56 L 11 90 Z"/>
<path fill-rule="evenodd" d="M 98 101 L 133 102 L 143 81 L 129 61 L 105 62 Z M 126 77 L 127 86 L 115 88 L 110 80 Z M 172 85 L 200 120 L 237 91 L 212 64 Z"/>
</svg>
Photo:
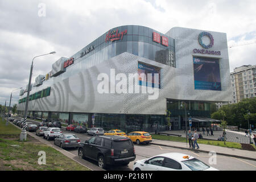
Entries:
<svg viewBox="0 0 256 182">
<path fill-rule="evenodd" d="M 218 59 L 193 57 L 195 89 L 221 90 Z"/>
</svg>

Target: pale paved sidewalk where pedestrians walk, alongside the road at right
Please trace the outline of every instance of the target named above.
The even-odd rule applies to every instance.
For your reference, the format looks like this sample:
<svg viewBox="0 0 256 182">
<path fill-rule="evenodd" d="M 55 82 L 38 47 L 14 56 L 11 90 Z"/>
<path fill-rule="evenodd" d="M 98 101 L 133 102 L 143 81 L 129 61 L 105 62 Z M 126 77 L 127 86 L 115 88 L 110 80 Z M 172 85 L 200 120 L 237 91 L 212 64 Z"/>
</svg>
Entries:
<svg viewBox="0 0 256 182">
<path fill-rule="evenodd" d="M 209 153 L 210 151 L 214 151 L 218 155 L 225 155 L 225 156 L 230 156 L 230 157 L 234 157 L 234 158 L 242 158 L 242 159 L 256 161 L 256 152 L 255 151 L 247 151 L 247 150 L 240 150 L 240 149 L 236 149 L 236 148 L 211 146 L 208 144 L 199 144 L 199 147 L 200 147 L 199 150 L 193 150 L 193 149 L 189 148 L 189 144 L 186 144 L 186 143 L 171 142 L 171 141 L 167 141 L 167 140 L 156 140 L 156 139 L 152 139 L 152 142 L 150 142 L 150 143 L 159 145 L 159 146 L 181 148 L 181 149 L 186 149 L 186 150 L 200 151 L 200 152 L 207 152 L 207 153 Z"/>
</svg>

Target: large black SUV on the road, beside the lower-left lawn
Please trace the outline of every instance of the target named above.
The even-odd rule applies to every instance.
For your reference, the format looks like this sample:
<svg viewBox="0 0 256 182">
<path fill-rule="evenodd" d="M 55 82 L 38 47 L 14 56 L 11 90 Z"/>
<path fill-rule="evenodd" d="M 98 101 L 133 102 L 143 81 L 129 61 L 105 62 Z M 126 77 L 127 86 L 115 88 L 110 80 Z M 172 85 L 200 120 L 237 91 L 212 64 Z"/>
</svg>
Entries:
<svg viewBox="0 0 256 182">
<path fill-rule="evenodd" d="M 119 163 L 128 165 L 135 160 L 135 148 L 131 139 L 120 136 L 96 136 L 79 144 L 79 158 L 90 158 L 98 162 L 98 166 Z"/>
</svg>

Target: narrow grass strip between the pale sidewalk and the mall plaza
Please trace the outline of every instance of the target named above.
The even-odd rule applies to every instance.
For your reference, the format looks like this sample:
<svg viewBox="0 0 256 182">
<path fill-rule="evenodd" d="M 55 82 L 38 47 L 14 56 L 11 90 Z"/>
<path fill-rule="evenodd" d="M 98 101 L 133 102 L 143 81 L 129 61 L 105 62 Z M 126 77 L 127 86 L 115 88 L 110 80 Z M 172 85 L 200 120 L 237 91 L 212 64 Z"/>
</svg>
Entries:
<svg viewBox="0 0 256 182">
<path fill-rule="evenodd" d="M 156 135 L 156 134 L 152 134 L 151 136 L 152 136 L 152 139 L 170 140 L 172 142 L 184 142 L 184 143 L 186 142 L 185 137 L 174 137 L 174 136 Z M 217 140 L 215 141 L 215 140 L 198 139 L 197 143 L 199 143 L 199 144 L 209 144 L 209 145 L 220 146 L 220 147 L 242 149 L 241 144 L 236 143 L 236 142 L 226 142 L 226 144 L 224 144 L 224 142 L 217 141 Z"/>
</svg>

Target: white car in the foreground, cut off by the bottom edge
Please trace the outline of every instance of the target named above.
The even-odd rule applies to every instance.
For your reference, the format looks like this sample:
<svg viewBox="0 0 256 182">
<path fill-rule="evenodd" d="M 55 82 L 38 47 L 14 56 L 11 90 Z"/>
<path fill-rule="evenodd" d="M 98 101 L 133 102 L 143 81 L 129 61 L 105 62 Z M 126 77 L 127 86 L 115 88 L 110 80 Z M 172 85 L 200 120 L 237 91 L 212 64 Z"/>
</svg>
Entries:
<svg viewBox="0 0 256 182">
<path fill-rule="evenodd" d="M 152 158 L 137 160 L 134 171 L 218 171 L 192 156 L 166 153 Z"/>
</svg>

